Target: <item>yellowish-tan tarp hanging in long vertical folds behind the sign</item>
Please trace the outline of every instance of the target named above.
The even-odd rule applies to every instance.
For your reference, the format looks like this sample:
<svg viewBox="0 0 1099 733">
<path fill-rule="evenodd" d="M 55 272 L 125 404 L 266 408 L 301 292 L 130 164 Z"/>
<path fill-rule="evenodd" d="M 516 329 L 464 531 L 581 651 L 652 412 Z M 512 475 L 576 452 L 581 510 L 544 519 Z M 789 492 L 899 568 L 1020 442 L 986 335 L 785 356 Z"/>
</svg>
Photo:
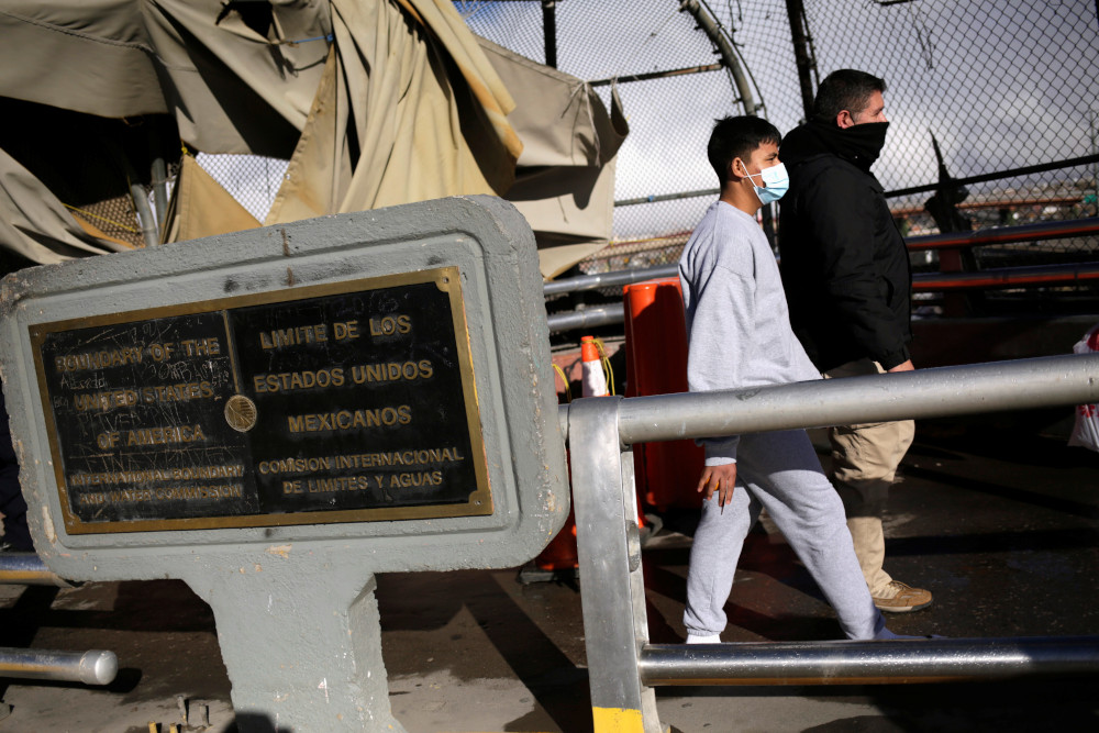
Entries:
<svg viewBox="0 0 1099 733">
<path fill-rule="evenodd" d="M 503 119 L 508 90 L 449 2 L 402 2 L 436 25 L 332 0 L 335 45 L 266 224 L 511 186 L 522 145 Z"/>
</svg>

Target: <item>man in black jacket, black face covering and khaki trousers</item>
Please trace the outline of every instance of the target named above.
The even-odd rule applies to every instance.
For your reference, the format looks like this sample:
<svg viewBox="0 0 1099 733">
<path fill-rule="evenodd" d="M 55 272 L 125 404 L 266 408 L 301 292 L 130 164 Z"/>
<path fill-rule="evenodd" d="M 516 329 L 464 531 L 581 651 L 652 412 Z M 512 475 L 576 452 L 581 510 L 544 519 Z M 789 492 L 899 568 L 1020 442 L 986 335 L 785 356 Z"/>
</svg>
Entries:
<svg viewBox="0 0 1099 733">
<path fill-rule="evenodd" d="M 790 174 L 779 219 L 782 285 L 793 332 L 825 377 L 913 368 L 908 251 L 870 173 L 889 125 L 885 89 L 865 71 L 834 71 L 821 82 L 812 119 L 782 143 Z M 870 596 L 884 611 L 931 603 L 930 592 L 881 567 L 881 514 L 914 433 L 911 420 L 829 431 L 832 482 Z"/>
</svg>

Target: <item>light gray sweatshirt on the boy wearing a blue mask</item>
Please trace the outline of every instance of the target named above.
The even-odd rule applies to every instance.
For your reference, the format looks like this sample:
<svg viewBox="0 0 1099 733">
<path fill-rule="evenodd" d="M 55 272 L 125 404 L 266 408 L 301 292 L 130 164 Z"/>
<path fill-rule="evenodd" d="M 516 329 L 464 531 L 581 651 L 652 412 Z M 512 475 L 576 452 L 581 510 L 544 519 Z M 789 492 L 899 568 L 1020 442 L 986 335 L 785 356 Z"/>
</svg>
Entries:
<svg viewBox="0 0 1099 733">
<path fill-rule="evenodd" d="M 790 329 L 767 237 L 740 209 L 714 202 L 679 257 L 690 391 L 820 379 Z M 707 438 L 706 465 L 736 460 L 740 436 Z"/>
</svg>

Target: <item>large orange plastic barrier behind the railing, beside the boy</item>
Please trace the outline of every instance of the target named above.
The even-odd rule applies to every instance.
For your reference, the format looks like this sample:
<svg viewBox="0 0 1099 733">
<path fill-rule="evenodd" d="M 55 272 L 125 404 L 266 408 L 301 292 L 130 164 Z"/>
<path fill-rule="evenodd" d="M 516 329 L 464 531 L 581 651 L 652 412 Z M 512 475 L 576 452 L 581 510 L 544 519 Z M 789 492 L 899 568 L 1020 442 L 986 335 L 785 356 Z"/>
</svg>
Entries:
<svg viewBox="0 0 1099 733">
<path fill-rule="evenodd" d="M 626 397 L 687 391 L 687 327 L 678 278 L 628 285 Z M 659 511 L 700 507 L 703 452 L 695 441 L 633 446 L 637 498 Z"/>
</svg>

